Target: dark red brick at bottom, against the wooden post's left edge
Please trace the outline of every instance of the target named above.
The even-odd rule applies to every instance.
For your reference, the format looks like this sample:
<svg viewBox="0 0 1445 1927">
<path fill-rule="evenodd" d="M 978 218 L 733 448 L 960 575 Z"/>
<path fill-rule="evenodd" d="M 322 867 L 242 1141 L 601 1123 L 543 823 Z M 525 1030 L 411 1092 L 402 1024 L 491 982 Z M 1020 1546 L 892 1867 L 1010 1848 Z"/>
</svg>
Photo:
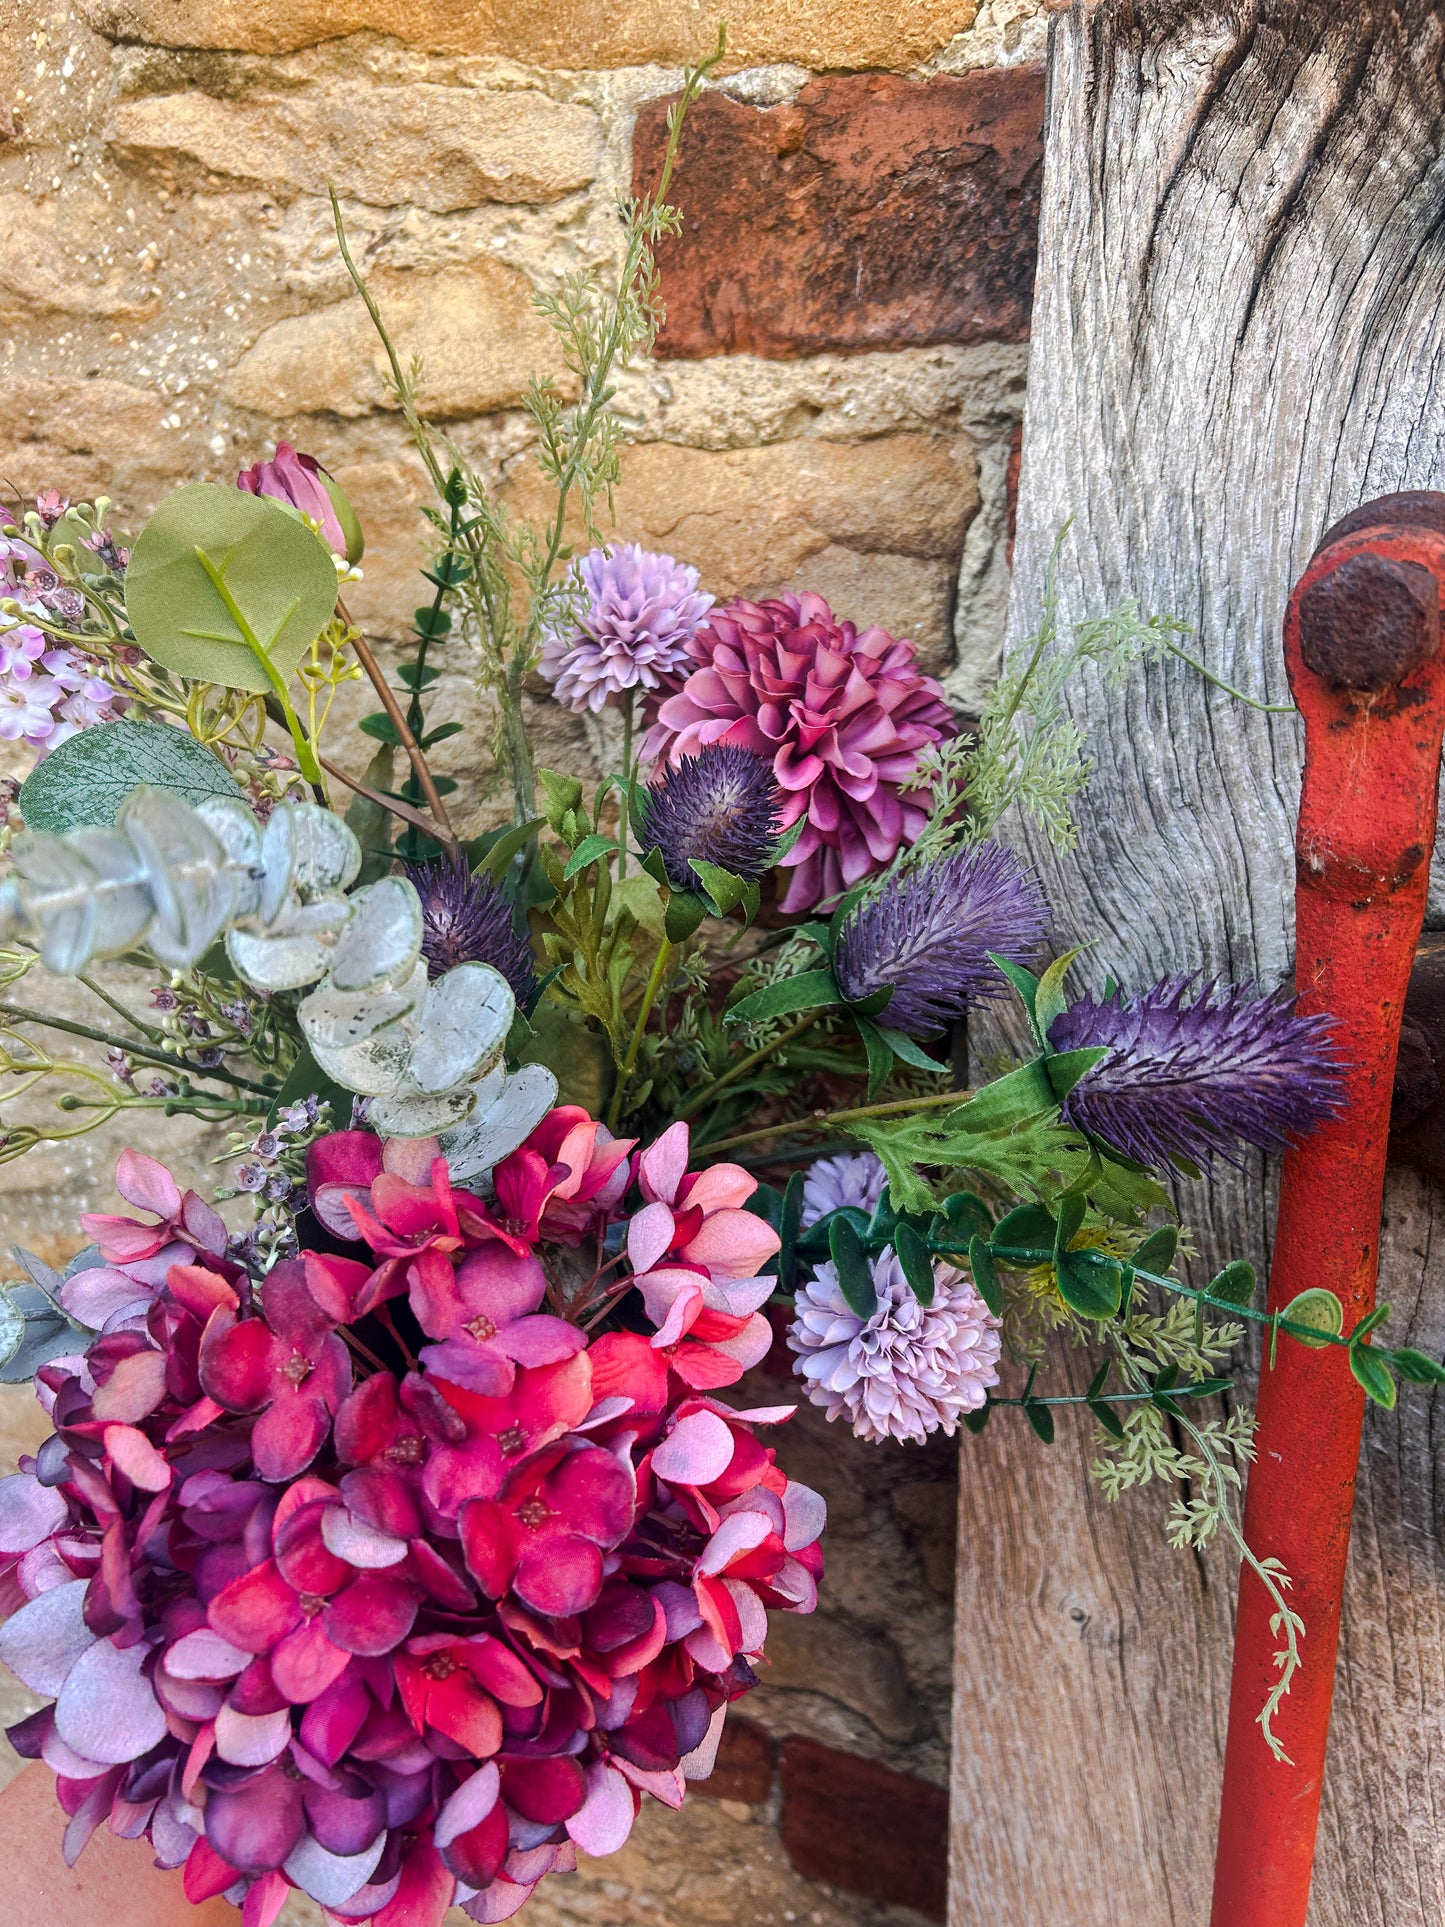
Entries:
<svg viewBox="0 0 1445 1927">
<path fill-rule="evenodd" d="M 782 1844 L 798 1873 L 944 1917 L 948 1794 L 817 1740 L 782 1742 Z"/>
</svg>

